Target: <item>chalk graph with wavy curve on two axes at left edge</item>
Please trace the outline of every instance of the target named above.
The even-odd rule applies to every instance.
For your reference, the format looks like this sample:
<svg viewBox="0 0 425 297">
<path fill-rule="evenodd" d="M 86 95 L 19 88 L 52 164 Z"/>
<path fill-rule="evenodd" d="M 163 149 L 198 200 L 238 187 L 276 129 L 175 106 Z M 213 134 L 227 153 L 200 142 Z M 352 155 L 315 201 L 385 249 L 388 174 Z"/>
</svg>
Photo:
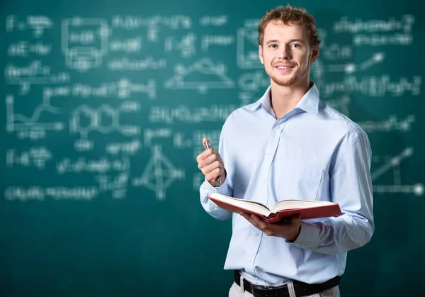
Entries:
<svg viewBox="0 0 425 297">
<path fill-rule="evenodd" d="M 20 113 L 15 113 L 14 108 L 14 97 L 13 95 L 6 96 L 6 131 L 13 133 L 17 131 L 38 131 L 45 135 L 46 130 L 60 131 L 64 129 L 62 122 L 54 123 L 41 123 L 40 115 L 43 112 L 58 114 L 60 113 L 59 108 L 50 105 L 49 100 L 43 99 L 34 110 L 33 115 L 30 117 L 23 116 Z"/>
</svg>

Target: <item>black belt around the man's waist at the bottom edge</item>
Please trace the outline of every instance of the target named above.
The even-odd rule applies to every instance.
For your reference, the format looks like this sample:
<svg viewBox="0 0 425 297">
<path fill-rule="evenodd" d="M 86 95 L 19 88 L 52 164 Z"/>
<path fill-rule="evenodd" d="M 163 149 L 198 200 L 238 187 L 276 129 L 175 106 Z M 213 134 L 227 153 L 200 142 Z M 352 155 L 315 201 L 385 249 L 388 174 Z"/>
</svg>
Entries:
<svg viewBox="0 0 425 297">
<path fill-rule="evenodd" d="M 329 281 L 325 281 L 322 284 L 307 284 L 301 281 L 293 281 L 295 296 L 309 296 L 313 294 L 317 294 L 322 291 L 329 290 L 329 288 L 334 288 L 334 286 L 339 285 L 339 281 L 341 280 L 341 276 L 335 276 L 333 279 L 329 279 Z M 234 282 L 241 286 L 241 274 L 239 271 L 234 271 Z M 244 278 L 244 291 L 247 291 L 254 295 L 254 297 L 282 297 L 289 296 L 288 286 L 259 286 L 251 284 Z"/>
</svg>

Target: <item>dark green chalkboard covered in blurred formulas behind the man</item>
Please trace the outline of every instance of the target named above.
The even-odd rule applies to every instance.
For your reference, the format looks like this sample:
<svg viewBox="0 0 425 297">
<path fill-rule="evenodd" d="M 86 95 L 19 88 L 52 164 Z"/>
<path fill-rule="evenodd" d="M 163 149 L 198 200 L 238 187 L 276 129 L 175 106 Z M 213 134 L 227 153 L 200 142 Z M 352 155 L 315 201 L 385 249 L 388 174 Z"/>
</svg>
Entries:
<svg viewBox="0 0 425 297">
<path fill-rule="evenodd" d="M 277 4 L 2 1 L 1 296 L 227 296 L 231 222 L 200 206 L 195 158 L 268 86 L 256 26 Z M 373 149 L 375 235 L 341 293 L 418 295 L 424 5 L 291 4 L 317 21 L 322 99 Z"/>
</svg>

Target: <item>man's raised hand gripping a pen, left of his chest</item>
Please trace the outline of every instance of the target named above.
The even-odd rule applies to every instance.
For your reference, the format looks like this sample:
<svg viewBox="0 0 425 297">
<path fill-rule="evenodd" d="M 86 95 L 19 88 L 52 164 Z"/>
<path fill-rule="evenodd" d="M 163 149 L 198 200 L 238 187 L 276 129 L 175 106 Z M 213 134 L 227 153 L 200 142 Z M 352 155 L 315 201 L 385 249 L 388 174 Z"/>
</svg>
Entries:
<svg viewBox="0 0 425 297">
<path fill-rule="evenodd" d="M 202 144 L 204 147 L 206 141 L 209 141 L 208 138 L 203 138 Z M 198 168 L 212 186 L 220 186 L 220 183 L 217 181 L 219 176 L 222 184 L 225 182 L 225 165 L 216 150 L 212 148 L 205 150 L 196 157 L 196 162 L 198 162 Z"/>
</svg>

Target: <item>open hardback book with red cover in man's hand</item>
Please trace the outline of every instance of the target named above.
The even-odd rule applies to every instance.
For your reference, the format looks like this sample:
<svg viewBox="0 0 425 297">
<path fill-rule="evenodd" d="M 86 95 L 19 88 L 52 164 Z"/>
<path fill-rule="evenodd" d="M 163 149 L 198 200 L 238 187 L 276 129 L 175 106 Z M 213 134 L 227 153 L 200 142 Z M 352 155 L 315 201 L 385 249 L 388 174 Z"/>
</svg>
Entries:
<svg viewBox="0 0 425 297">
<path fill-rule="evenodd" d="M 208 198 L 220 208 L 234 213 L 243 211 L 244 213 L 258 215 L 259 218 L 268 223 L 277 223 L 281 220 L 300 213 L 301 219 L 323 218 L 334 215 L 342 215 L 338 203 L 314 200 L 282 200 L 278 201 L 271 208 L 262 203 L 250 200 L 234 198 L 230 196 L 212 193 Z"/>
</svg>

